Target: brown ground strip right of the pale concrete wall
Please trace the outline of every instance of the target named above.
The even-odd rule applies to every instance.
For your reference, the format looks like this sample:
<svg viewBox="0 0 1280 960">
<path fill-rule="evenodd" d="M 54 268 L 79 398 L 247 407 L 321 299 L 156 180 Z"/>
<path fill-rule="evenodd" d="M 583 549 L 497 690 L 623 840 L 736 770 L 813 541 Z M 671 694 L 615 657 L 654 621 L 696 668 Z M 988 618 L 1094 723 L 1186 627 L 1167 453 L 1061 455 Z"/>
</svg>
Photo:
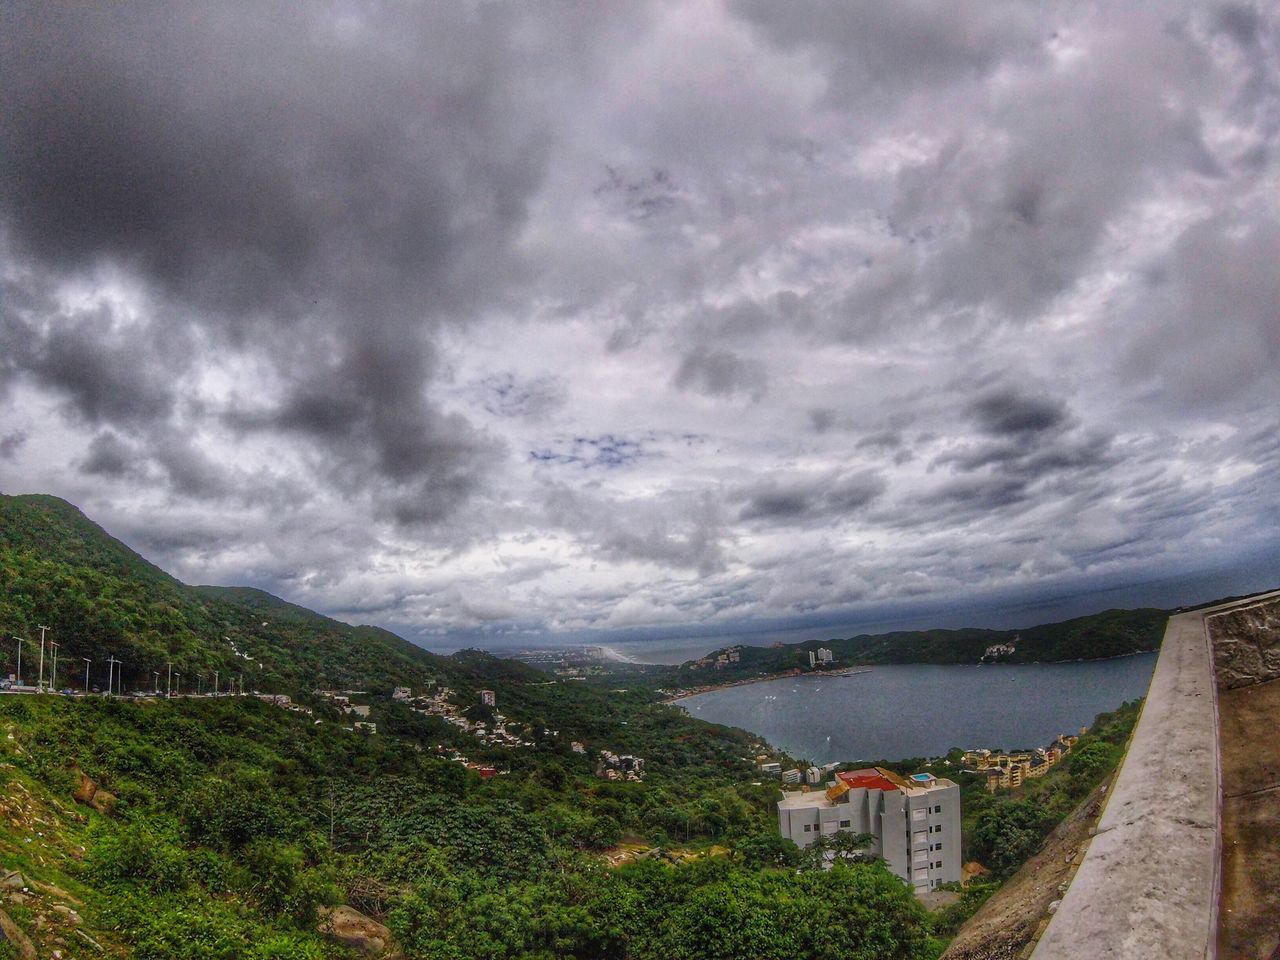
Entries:
<svg viewBox="0 0 1280 960">
<path fill-rule="evenodd" d="M 1280 680 L 1219 694 L 1222 893 L 1217 952 L 1270 957 L 1280 945 Z"/>
</svg>

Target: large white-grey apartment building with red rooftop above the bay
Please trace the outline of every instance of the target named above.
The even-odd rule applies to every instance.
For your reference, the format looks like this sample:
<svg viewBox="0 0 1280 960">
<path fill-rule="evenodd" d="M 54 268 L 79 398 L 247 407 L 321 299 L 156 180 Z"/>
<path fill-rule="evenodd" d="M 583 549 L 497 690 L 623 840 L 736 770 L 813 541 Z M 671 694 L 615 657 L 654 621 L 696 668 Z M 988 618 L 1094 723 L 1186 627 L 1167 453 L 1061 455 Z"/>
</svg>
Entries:
<svg viewBox="0 0 1280 960">
<path fill-rule="evenodd" d="M 827 790 L 783 794 L 778 829 L 801 847 L 824 835 L 870 833 L 868 852 L 916 893 L 960 881 L 960 787 L 932 773 L 904 778 L 883 767 L 837 773 Z"/>
</svg>

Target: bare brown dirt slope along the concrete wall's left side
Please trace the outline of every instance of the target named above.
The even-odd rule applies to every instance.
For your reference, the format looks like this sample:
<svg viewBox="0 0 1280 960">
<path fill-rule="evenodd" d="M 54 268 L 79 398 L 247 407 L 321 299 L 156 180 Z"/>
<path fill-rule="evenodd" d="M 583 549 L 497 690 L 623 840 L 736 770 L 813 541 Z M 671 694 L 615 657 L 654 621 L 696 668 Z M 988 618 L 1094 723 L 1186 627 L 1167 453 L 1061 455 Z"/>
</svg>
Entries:
<svg viewBox="0 0 1280 960">
<path fill-rule="evenodd" d="M 1110 783 L 1108 777 L 1057 824 L 1039 852 L 960 928 L 942 960 L 1012 960 L 1029 952 L 1084 858 Z"/>
</svg>

